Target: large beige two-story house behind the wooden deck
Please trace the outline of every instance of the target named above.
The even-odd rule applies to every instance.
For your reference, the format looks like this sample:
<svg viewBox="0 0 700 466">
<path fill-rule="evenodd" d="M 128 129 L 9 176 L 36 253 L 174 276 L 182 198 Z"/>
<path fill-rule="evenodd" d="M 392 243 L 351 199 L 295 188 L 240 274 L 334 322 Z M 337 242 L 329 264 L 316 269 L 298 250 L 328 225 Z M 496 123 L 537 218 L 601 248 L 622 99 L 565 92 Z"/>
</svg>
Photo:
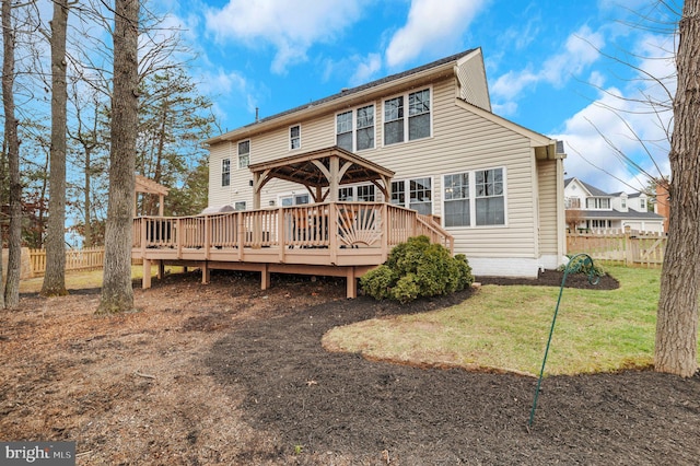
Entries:
<svg viewBox="0 0 700 466">
<path fill-rule="evenodd" d="M 475 275 L 536 277 L 565 254 L 564 154 L 546 136 L 491 112 L 481 49 L 259 119 L 207 141 L 209 206 L 253 209 L 249 164 L 331 147 L 395 176 L 390 199 L 372 184 L 339 200 L 389 201 L 434 215 Z M 261 207 L 313 201 L 276 179 Z"/>
</svg>

